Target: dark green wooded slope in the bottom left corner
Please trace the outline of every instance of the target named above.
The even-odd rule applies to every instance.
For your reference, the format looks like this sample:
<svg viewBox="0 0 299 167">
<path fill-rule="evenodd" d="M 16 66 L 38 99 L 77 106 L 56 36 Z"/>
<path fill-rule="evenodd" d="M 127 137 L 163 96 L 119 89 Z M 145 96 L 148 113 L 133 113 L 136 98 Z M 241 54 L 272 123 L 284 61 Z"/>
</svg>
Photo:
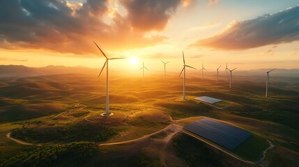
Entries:
<svg viewBox="0 0 299 167">
<path fill-rule="evenodd" d="M 66 145 L 28 147 L 0 164 L 12 166 L 85 166 L 98 152 L 95 143 L 80 142 Z"/>
</svg>

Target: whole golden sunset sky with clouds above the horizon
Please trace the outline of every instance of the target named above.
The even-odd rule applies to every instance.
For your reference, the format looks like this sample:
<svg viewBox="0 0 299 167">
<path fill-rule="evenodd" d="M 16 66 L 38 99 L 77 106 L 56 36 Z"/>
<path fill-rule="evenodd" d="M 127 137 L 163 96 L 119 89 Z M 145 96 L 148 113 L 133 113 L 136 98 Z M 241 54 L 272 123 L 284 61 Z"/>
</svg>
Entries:
<svg viewBox="0 0 299 167">
<path fill-rule="evenodd" d="M 0 64 L 299 68 L 299 1 L 2 0 Z M 221 70 L 221 68 L 220 68 Z"/>
</svg>

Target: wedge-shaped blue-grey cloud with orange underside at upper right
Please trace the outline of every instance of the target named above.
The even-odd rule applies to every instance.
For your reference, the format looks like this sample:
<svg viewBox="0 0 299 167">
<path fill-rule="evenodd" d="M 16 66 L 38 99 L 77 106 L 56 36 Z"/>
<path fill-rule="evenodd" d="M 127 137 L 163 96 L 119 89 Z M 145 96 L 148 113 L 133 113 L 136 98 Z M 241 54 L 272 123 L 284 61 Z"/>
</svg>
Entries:
<svg viewBox="0 0 299 167">
<path fill-rule="evenodd" d="M 233 21 L 221 33 L 191 46 L 250 49 L 299 40 L 299 6 L 243 22 Z"/>
</svg>

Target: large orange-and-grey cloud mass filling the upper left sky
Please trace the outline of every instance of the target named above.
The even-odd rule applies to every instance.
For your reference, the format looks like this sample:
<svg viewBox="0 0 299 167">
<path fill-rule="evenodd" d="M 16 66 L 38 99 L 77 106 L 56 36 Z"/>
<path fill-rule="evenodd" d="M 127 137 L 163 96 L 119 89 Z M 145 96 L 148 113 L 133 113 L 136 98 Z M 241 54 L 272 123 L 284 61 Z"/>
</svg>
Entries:
<svg viewBox="0 0 299 167">
<path fill-rule="evenodd" d="M 166 37 L 148 37 L 146 31 L 162 30 L 181 4 L 179 0 L 123 0 L 128 15 L 116 11 L 107 24 L 103 18 L 111 15 L 108 1 L 0 1 L 0 48 L 98 54 L 93 40 L 104 50 L 156 45 Z"/>
</svg>

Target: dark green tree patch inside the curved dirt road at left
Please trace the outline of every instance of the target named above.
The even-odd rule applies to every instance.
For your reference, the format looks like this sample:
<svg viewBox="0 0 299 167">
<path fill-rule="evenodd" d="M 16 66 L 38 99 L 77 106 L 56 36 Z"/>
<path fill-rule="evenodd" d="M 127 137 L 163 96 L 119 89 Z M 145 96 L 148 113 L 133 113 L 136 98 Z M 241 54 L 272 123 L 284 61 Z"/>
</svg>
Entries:
<svg viewBox="0 0 299 167">
<path fill-rule="evenodd" d="M 116 130 L 111 127 L 102 125 L 70 125 L 68 127 L 56 127 L 43 132 L 30 128 L 16 129 L 12 136 L 22 141 L 31 143 L 48 143 L 48 142 L 78 142 L 90 141 L 99 142 L 107 141 L 116 134 Z"/>
</svg>

